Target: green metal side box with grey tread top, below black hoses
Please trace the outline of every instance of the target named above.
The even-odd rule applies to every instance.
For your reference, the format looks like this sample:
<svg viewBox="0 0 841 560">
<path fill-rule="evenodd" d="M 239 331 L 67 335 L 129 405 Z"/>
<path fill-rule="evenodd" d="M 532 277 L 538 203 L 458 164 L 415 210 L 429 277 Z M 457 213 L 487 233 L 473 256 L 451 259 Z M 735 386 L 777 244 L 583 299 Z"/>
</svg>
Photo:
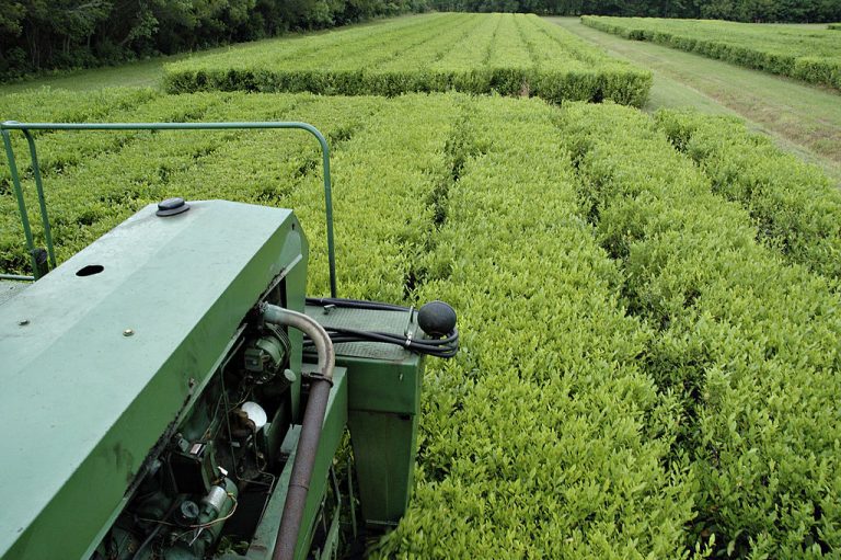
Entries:
<svg viewBox="0 0 841 560">
<path fill-rule="evenodd" d="M 344 327 L 423 336 L 404 311 L 307 306 L 325 328 Z M 348 427 L 369 526 L 395 525 L 408 506 L 417 450 L 423 356 L 391 344 L 336 344 L 336 364 L 348 370 Z"/>
</svg>

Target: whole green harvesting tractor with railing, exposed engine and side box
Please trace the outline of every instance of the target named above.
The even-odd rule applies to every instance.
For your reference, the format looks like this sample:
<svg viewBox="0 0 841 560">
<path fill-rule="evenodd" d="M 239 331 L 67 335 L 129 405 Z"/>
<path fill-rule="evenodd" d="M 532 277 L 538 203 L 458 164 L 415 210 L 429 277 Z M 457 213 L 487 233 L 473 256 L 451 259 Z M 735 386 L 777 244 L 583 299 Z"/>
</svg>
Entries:
<svg viewBox="0 0 841 560">
<path fill-rule="evenodd" d="M 224 201 L 149 205 L 56 266 L 32 130 L 221 128 L 318 138 L 331 297 L 306 296 L 308 241 L 291 210 Z M 334 558 L 343 535 L 399 522 L 424 356 L 456 354 L 456 313 L 440 301 L 415 310 L 336 296 L 330 155 L 315 128 L 3 123 L 0 133 L 33 270 L 0 276 L 0 559 Z M 337 461 L 348 432 L 353 469 Z"/>
</svg>

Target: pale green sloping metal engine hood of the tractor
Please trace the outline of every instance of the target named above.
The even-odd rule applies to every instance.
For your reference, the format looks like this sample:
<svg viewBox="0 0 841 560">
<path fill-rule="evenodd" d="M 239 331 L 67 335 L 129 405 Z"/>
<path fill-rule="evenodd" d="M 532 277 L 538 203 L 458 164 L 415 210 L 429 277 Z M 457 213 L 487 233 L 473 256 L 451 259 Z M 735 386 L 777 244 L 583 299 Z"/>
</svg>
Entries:
<svg viewBox="0 0 841 560">
<path fill-rule="evenodd" d="M 191 206 L 148 206 L 0 306 L 0 558 L 88 557 L 272 281 L 303 309 L 290 210 Z"/>
</svg>

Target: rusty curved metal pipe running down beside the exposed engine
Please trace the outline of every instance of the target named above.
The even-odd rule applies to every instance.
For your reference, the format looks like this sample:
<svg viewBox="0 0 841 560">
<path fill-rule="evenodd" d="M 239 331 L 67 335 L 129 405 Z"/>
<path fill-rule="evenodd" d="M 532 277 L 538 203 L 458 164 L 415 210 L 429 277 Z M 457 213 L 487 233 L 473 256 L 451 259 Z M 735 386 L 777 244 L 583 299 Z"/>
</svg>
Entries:
<svg viewBox="0 0 841 560">
<path fill-rule="evenodd" d="M 324 413 L 327 410 L 330 388 L 333 386 L 336 354 L 333 351 L 330 335 L 314 319 L 310 319 L 298 311 L 268 304 L 264 305 L 261 311 L 263 320 L 267 323 L 291 327 L 303 332 L 315 344 L 319 355 L 320 374 L 312 378 L 310 385 L 310 397 L 301 422 L 301 437 L 298 439 L 298 449 L 289 479 L 289 490 L 284 504 L 284 515 L 280 518 L 280 528 L 277 530 L 275 551 L 272 556 L 273 560 L 293 560 L 295 548 L 303 521 L 303 508 L 307 504 L 307 493 L 315 467 L 315 453 L 319 449 Z"/>
</svg>

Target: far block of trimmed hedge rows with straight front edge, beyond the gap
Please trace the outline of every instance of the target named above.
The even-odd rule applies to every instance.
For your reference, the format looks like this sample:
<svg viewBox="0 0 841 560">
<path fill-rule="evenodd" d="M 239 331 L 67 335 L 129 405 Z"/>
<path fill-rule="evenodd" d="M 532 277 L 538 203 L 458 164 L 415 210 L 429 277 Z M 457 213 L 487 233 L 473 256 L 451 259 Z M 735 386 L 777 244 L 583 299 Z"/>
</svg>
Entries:
<svg viewBox="0 0 841 560">
<path fill-rule="evenodd" d="M 649 71 L 535 15 L 435 13 L 261 42 L 165 68 L 170 93 L 492 93 L 640 106 Z"/>
</svg>

